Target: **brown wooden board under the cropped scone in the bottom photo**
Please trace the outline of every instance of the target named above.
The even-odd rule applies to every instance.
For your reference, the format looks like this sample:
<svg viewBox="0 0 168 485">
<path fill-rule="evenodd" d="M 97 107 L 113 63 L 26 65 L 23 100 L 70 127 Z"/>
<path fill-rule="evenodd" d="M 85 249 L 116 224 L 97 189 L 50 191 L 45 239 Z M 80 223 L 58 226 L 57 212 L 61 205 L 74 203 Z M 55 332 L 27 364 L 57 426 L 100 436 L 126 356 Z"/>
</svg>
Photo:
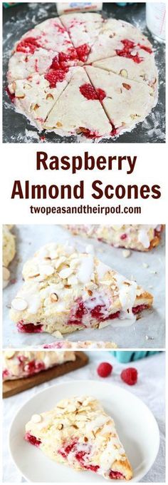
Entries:
<svg viewBox="0 0 168 485">
<path fill-rule="evenodd" d="M 19 392 L 31 389 L 31 387 L 38 386 L 38 384 L 56 379 L 56 377 L 72 372 L 75 369 L 80 369 L 80 367 L 88 364 L 88 356 L 84 352 L 75 352 L 75 356 L 76 359 L 74 362 L 58 364 L 55 367 L 51 367 L 51 369 L 43 370 L 31 377 L 3 382 L 3 397 L 14 396 L 14 394 L 19 394 Z"/>
</svg>

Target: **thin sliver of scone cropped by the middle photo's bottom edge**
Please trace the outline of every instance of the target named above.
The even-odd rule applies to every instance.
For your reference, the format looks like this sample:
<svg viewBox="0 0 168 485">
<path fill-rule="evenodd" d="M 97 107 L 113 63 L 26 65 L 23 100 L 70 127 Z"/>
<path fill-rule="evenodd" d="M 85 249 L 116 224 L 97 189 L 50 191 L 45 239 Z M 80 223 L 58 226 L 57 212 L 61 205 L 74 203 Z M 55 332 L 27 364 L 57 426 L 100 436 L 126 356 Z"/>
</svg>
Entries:
<svg viewBox="0 0 168 485">
<path fill-rule="evenodd" d="M 92 342 L 92 340 L 78 340 L 70 342 L 68 340 L 59 340 L 52 344 L 43 345 L 44 349 L 117 349 L 115 342 Z"/>
</svg>

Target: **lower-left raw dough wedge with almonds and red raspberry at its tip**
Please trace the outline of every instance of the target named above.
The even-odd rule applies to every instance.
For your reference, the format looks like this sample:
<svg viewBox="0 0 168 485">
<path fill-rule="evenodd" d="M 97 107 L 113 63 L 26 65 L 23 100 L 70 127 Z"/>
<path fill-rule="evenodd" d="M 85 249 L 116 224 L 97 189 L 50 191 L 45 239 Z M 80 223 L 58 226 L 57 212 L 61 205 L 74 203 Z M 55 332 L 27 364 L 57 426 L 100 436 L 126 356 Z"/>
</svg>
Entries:
<svg viewBox="0 0 168 485">
<path fill-rule="evenodd" d="M 68 72 L 63 72 L 63 76 L 58 71 L 48 71 L 44 76 L 32 74 L 28 79 L 18 79 L 11 83 L 9 91 L 14 96 L 18 111 L 26 114 L 33 125 L 43 130 L 48 113 L 68 85 L 71 76 L 71 68 Z"/>
</svg>

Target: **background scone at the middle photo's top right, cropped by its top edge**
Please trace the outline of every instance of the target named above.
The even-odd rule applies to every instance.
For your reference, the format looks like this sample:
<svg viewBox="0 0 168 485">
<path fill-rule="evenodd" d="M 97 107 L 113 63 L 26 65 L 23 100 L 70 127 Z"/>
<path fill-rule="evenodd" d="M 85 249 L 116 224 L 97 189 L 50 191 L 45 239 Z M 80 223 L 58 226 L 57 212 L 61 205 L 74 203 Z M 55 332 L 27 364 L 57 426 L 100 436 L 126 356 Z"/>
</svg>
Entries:
<svg viewBox="0 0 168 485">
<path fill-rule="evenodd" d="M 149 251 L 161 242 L 163 225 L 147 224 L 75 224 L 66 225 L 73 235 L 94 238 L 115 247 L 125 247 L 137 251 Z"/>
</svg>

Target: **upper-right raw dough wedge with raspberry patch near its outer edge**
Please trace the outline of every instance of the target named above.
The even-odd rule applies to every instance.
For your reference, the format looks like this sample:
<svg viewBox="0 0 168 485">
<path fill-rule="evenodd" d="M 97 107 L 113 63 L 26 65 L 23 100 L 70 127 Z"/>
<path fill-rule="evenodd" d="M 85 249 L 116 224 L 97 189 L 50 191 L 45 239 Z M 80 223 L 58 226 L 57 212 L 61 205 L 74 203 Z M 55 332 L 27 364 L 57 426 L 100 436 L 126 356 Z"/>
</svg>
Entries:
<svg viewBox="0 0 168 485">
<path fill-rule="evenodd" d="M 87 64 L 106 57 L 124 56 L 134 58 L 135 62 L 143 59 L 143 53 L 152 53 L 152 44 L 135 26 L 115 19 L 103 22 L 98 39 L 90 49 Z"/>
</svg>

